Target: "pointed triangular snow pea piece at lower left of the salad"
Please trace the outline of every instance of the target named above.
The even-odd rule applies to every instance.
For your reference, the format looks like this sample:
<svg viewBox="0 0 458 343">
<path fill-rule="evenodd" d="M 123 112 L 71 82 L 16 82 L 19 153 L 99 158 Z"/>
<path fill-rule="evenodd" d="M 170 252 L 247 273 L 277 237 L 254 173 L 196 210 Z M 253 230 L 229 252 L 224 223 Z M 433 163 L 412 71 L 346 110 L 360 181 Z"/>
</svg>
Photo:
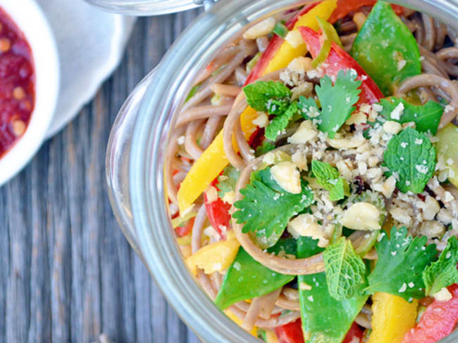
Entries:
<svg viewBox="0 0 458 343">
<path fill-rule="evenodd" d="M 294 238 L 280 239 L 268 252 L 275 254 L 296 254 L 296 240 Z M 245 299 L 260 297 L 289 283 L 295 278 L 293 275 L 284 275 L 271 271 L 254 260 L 243 247 L 225 274 L 223 284 L 215 299 L 219 309 L 227 309 L 230 305 Z"/>
</svg>

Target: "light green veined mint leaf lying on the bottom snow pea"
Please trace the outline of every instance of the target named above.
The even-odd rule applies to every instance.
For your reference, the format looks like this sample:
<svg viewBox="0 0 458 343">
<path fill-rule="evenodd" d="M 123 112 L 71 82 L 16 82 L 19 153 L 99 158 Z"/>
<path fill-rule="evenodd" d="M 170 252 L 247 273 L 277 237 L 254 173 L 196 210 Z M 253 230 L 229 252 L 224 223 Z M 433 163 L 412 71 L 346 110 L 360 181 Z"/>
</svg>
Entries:
<svg viewBox="0 0 458 343">
<path fill-rule="evenodd" d="M 349 299 L 366 283 L 366 266 L 345 237 L 326 247 L 323 260 L 328 291 L 334 299 Z"/>
</svg>

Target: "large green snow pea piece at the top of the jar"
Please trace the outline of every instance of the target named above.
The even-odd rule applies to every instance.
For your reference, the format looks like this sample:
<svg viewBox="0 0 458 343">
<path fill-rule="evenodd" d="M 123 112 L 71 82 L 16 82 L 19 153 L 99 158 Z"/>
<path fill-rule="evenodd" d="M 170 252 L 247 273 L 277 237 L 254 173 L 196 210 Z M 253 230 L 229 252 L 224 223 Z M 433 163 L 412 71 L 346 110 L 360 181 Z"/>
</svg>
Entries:
<svg viewBox="0 0 458 343">
<path fill-rule="evenodd" d="M 396 84 L 421 73 L 419 46 L 385 1 L 373 6 L 350 53 L 385 96 L 392 94 Z"/>
</svg>

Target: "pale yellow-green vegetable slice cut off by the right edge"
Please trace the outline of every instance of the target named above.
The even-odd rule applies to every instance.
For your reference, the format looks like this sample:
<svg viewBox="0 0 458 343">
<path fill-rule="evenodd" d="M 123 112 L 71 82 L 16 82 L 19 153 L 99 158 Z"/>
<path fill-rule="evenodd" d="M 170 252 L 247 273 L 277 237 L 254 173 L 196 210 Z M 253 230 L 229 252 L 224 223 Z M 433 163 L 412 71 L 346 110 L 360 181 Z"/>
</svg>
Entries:
<svg viewBox="0 0 458 343">
<path fill-rule="evenodd" d="M 438 152 L 438 163 L 449 169 L 448 180 L 458 187 L 458 127 L 447 124 L 436 134 L 439 141 L 435 149 Z"/>
</svg>

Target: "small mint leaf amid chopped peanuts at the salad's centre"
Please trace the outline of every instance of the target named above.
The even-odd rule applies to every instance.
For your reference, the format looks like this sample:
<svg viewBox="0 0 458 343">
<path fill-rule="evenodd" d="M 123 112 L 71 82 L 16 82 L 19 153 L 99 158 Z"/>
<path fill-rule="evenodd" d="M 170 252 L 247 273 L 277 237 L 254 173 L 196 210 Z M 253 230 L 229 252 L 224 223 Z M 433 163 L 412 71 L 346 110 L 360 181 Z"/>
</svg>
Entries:
<svg viewBox="0 0 458 343">
<path fill-rule="evenodd" d="M 339 171 L 330 164 L 313 160 L 311 171 L 316 177 L 316 182 L 329 191 L 330 200 L 337 201 L 349 195 L 348 182 L 340 177 Z"/>
</svg>

